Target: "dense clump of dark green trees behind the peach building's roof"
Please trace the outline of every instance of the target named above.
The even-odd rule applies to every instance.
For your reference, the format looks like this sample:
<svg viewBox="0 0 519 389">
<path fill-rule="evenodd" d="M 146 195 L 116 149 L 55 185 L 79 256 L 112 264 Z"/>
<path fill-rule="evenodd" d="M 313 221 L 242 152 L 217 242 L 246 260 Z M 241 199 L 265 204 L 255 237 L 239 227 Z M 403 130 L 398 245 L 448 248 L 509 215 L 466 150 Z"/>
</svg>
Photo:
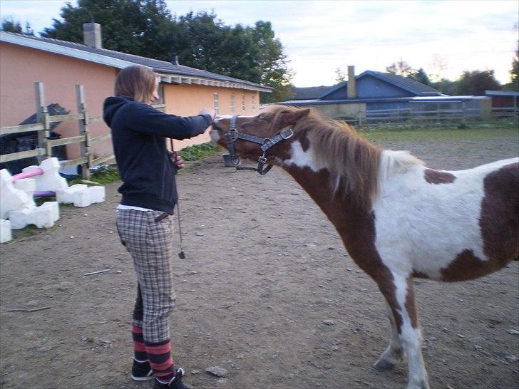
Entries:
<svg viewBox="0 0 519 389">
<path fill-rule="evenodd" d="M 42 36 L 81 43 L 83 24 L 95 21 L 103 48 L 168 62 L 177 53 L 185 66 L 272 86 L 274 93 L 262 101 L 290 93 L 292 72 L 268 21 L 227 26 L 205 11 L 177 18 L 164 0 L 78 0 L 63 6 L 61 18 Z"/>
</svg>

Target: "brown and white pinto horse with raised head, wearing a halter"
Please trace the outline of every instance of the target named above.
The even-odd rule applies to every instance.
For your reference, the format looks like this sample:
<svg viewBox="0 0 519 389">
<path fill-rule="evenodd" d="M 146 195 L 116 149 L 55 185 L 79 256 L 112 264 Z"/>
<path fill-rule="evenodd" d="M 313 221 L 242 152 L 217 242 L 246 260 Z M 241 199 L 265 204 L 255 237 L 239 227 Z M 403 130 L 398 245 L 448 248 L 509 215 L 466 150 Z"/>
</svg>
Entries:
<svg viewBox="0 0 519 389">
<path fill-rule="evenodd" d="M 258 160 L 250 169 L 262 175 L 282 167 L 312 197 L 386 300 L 391 338 L 374 367 L 406 355 L 408 388 L 429 388 L 412 280 L 466 281 L 518 259 L 519 158 L 435 170 L 313 108 L 284 105 L 217 117 L 210 136 L 236 165 Z"/>
</svg>

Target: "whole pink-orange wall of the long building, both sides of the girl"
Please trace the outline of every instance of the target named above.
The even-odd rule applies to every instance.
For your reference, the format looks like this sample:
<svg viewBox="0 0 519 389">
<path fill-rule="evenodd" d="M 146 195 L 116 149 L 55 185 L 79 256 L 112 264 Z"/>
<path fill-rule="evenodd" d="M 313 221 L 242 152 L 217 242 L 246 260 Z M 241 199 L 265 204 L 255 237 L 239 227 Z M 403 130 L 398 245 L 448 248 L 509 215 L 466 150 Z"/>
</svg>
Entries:
<svg viewBox="0 0 519 389">
<path fill-rule="evenodd" d="M 36 81 L 43 82 L 45 105 L 58 103 L 71 113 L 77 112 L 75 85 L 83 85 L 90 117 L 102 115 L 103 101 L 113 95 L 118 69 L 11 43 L 0 43 L 0 51 L 0 126 L 17 125 L 36 112 Z M 257 115 L 259 111 L 260 93 L 255 90 L 164 84 L 165 112 L 180 116 L 197 115 L 201 108 L 213 108 L 215 92 L 219 95 L 220 115 L 231 113 L 232 92 L 235 94 L 235 115 Z M 242 93 L 245 93 L 245 110 L 242 110 Z M 92 137 L 110 131 L 102 121 L 89 125 L 88 130 Z M 78 122 L 63 122 L 56 128 L 56 133 L 62 138 L 76 136 Z M 205 133 L 191 140 L 175 141 L 175 150 L 209 141 L 209 135 Z M 111 141 L 96 144 L 94 152 L 98 156 L 111 153 Z M 67 154 L 68 159 L 79 157 L 79 145 L 68 145 Z"/>
</svg>

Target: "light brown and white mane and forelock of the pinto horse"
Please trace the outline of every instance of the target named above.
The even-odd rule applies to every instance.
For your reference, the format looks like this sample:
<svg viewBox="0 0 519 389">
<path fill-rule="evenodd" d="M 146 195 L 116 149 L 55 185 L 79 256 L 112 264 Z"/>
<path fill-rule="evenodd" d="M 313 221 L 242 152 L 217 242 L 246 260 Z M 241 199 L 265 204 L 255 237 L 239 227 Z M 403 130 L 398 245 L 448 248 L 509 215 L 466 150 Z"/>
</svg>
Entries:
<svg viewBox="0 0 519 389">
<path fill-rule="evenodd" d="M 274 105 L 266 113 L 273 115 L 277 123 L 279 115 L 300 108 Z M 324 118 L 317 110 L 299 120 L 293 127 L 294 133 L 306 135 L 312 148 L 314 163 L 327 167 L 335 177 L 334 192 L 353 194 L 366 204 L 379 193 L 384 182 L 396 170 L 406 170 L 409 165 L 423 165 L 418 158 L 406 151 L 383 150 L 362 138 L 348 124 Z"/>
</svg>

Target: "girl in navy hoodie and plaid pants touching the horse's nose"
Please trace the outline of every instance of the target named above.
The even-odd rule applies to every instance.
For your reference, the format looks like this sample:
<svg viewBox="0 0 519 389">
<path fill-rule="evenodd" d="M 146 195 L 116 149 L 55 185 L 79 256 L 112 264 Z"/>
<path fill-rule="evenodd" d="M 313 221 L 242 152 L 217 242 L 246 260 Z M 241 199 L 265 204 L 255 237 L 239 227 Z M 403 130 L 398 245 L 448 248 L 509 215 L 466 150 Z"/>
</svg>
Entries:
<svg viewBox="0 0 519 389">
<path fill-rule="evenodd" d="M 123 185 L 117 207 L 120 241 L 133 258 L 137 299 L 133 308 L 134 380 L 155 377 L 153 388 L 187 389 L 183 370 L 173 363 L 168 316 L 173 309 L 173 208 L 178 200 L 175 173 L 184 167 L 170 155 L 165 138 L 183 140 L 204 133 L 214 111 L 181 118 L 155 110 L 157 75 L 129 66 L 115 80 L 115 96 L 105 100 L 103 118 L 111 128 L 113 151 Z"/>
</svg>

